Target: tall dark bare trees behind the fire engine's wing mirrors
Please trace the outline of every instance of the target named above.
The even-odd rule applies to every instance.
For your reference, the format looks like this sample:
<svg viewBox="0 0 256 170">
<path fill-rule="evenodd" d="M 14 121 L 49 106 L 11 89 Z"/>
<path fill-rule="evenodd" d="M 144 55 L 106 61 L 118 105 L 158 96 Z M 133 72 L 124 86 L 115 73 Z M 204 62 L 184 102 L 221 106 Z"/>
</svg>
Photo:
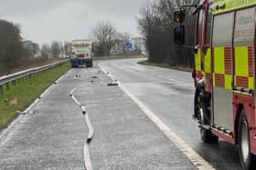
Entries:
<svg viewBox="0 0 256 170">
<path fill-rule="evenodd" d="M 144 35 L 148 60 L 169 65 L 192 65 L 192 53 L 173 42 L 173 13 L 183 4 L 193 4 L 196 0 L 159 0 L 145 5 L 137 17 L 139 29 Z M 187 45 L 193 45 L 195 17 L 187 10 Z"/>
</svg>

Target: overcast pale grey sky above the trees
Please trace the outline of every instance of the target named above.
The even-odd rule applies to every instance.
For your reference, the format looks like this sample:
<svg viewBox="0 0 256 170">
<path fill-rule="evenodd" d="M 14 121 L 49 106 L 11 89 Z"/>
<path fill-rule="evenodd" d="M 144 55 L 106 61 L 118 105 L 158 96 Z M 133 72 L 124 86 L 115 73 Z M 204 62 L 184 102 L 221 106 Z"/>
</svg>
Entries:
<svg viewBox="0 0 256 170">
<path fill-rule="evenodd" d="M 87 38 L 99 21 L 139 35 L 135 16 L 149 0 L 0 0 L 2 19 L 20 24 L 22 36 L 39 44 Z"/>
</svg>

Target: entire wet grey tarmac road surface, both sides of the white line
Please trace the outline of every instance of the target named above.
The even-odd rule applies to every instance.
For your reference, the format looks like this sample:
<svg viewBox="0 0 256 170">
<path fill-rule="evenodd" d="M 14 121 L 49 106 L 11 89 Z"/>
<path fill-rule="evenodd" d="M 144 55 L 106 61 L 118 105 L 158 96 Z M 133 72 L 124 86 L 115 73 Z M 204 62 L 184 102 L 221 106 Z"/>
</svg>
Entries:
<svg viewBox="0 0 256 170">
<path fill-rule="evenodd" d="M 73 95 L 85 105 L 95 132 L 87 153 L 93 169 L 206 169 L 197 164 L 200 156 L 217 169 L 240 169 L 234 145 L 206 145 L 199 139 L 191 118 L 191 74 L 137 65 L 139 60 L 100 63 L 120 86 L 107 86 L 112 80 L 97 64 L 70 69 L 8 133 L 0 134 L 0 169 L 85 169 L 88 129 L 69 96 L 76 87 Z M 146 111 L 166 127 L 155 125 Z M 171 141 L 174 135 L 185 143 L 177 137 Z M 189 149 L 198 154 L 194 159 Z"/>
</svg>

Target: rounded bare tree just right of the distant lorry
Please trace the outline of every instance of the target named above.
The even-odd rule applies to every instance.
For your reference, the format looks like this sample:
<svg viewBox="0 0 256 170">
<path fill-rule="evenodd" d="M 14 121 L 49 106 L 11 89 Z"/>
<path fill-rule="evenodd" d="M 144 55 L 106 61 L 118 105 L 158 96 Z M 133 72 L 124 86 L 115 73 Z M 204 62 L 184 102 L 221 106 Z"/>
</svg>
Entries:
<svg viewBox="0 0 256 170">
<path fill-rule="evenodd" d="M 110 55 L 116 41 L 116 29 L 110 22 L 99 22 L 92 30 L 92 38 L 95 42 L 95 55 Z"/>
</svg>

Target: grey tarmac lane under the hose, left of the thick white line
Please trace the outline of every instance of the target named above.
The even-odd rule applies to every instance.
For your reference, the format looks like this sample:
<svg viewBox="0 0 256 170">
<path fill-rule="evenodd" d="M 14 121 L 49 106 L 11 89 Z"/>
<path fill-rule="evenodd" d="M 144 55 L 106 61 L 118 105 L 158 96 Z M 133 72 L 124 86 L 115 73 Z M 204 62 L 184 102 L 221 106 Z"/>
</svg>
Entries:
<svg viewBox="0 0 256 170">
<path fill-rule="evenodd" d="M 123 60 L 124 61 L 124 60 Z M 0 135 L 0 169 L 85 169 L 88 129 L 93 169 L 197 169 L 98 66 L 72 68 L 16 125 Z M 6 131 L 5 131 L 6 132 Z M 88 160 L 88 159 L 87 159 Z"/>
</svg>

